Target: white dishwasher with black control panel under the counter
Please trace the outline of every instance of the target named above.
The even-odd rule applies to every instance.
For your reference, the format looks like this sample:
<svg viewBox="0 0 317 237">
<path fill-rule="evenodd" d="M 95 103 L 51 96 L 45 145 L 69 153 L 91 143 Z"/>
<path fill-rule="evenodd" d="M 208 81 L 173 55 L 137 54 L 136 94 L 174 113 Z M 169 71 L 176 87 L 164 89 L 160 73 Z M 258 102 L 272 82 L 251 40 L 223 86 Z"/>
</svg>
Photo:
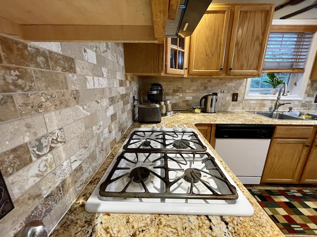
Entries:
<svg viewBox="0 0 317 237">
<path fill-rule="evenodd" d="M 217 124 L 215 151 L 243 184 L 260 184 L 273 125 Z"/>
</svg>

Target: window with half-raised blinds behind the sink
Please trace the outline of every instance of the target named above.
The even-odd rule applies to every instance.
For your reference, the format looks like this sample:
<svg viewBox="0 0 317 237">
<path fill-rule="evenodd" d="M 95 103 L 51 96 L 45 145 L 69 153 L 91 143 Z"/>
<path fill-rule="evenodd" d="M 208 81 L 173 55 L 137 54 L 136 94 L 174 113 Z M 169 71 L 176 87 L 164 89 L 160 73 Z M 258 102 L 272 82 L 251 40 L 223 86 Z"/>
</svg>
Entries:
<svg viewBox="0 0 317 237">
<path fill-rule="evenodd" d="M 245 98 L 276 99 L 276 95 L 270 95 L 271 85 L 264 82 L 268 79 L 266 73 L 274 73 L 288 84 L 291 95 L 288 98 L 300 99 L 304 93 L 303 88 L 299 87 L 306 87 L 303 76 L 314 35 L 312 32 L 271 32 L 263 74 L 259 78 L 247 80 Z"/>
</svg>

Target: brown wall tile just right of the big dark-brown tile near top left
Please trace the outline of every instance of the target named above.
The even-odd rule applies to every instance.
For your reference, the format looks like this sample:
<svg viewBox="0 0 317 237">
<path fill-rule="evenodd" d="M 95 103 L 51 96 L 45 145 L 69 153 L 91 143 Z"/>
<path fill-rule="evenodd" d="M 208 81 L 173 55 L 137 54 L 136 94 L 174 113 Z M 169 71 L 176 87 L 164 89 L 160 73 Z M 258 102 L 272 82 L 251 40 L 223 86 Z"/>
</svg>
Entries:
<svg viewBox="0 0 317 237">
<path fill-rule="evenodd" d="M 76 73 L 75 61 L 71 57 L 49 51 L 50 64 L 53 71 Z"/>
</svg>

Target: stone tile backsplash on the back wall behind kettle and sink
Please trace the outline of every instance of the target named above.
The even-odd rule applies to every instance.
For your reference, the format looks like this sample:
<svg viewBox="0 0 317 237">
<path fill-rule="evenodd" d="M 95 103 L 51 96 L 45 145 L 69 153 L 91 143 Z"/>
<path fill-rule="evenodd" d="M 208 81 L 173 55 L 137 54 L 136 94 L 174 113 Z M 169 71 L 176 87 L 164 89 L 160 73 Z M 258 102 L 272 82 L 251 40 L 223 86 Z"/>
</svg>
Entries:
<svg viewBox="0 0 317 237">
<path fill-rule="evenodd" d="M 209 78 L 142 78 L 142 98 L 147 99 L 147 91 L 152 83 L 163 87 L 163 99 L 170 100 L 173 109 L 190 109 L 199 106 L 200 99 L 213 92 L 218 93 L 217 110 L 272 110 L 275 100 L 245 100 L 247 79 L 209 79 Z M 238 101 L 232 102 L 232 93 L 239 93 Z M 317 93 L 317 80 L 309 80 L 305 98 L 292 101 L 293 110 L 317 111 L 313 103 Z M 288 106 L 284 106 L 287 110 Z M 283 107 L 281 107 L 283 108 Z"/>
</svg>

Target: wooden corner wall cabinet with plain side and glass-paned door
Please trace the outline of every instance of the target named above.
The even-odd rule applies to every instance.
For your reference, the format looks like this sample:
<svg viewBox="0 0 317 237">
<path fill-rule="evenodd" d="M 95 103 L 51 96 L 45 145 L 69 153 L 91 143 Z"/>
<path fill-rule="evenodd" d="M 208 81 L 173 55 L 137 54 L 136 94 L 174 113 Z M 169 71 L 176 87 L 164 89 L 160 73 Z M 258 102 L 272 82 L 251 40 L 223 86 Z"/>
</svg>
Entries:
<svg viewBox="0 0 317 237">
<path fill-rule="evenodd" d="M 137 76 L 186 76 L 189 37 L 164 44 L 124 43 L 125 72 Z"/>
</svg>

